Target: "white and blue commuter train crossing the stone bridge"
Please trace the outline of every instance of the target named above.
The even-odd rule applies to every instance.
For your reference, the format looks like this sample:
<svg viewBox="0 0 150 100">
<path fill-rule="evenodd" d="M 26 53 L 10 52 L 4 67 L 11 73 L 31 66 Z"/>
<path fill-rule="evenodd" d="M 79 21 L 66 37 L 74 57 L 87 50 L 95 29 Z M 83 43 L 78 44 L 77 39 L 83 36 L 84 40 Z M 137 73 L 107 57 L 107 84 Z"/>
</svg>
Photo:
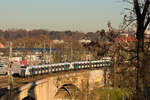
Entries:
<svg viewBox="0 0 150 100">
<path fill-rule="evenodd" d="M 111 62 L 110 59 L 102 59 L 96 61 L 79 61 L 79 62 L 70 62 L 70 63 L 66 62 L 66 63 L 57 63 L 57 64 L 21 66 L 21 70 L 19 74 L 21 77 L 27 77 L 27 76 L 46 74 L 52 72 L 60 72 L 60 71 L 109 67 L 110 62 Z"/>
</svg>

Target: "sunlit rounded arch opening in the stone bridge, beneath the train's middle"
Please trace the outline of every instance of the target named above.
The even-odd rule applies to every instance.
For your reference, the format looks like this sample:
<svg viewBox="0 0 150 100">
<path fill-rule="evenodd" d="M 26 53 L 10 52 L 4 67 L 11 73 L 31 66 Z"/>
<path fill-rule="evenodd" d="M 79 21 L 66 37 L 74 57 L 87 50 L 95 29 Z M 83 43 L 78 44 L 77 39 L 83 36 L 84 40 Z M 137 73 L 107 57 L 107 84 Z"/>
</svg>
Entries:
<svg viewBox="0 0 150 100">
<path fill-rule="evenodd" d="M 81 94 L 81 90 L 74 84 L 64 84 L 58 88 L 55 94 L 55 100 L 57 99 L 77 99 Z"/>
</svg>

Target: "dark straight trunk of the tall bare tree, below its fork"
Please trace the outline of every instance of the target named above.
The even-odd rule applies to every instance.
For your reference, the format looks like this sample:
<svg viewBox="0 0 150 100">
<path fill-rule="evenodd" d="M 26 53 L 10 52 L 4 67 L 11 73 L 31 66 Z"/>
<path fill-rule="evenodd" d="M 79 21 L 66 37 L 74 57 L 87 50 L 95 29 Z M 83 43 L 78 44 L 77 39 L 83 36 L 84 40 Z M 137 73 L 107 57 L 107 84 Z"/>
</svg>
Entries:
<svg viewBox="0 0 150 100">
<path fill-rule="evenodd" d="M 141 25 L 139 25 L 141 27 Z M 137 30 L 137 79 L 136 79 L 136 96 L 137 100 L 144 99 L 144 30 Z"/>
</svg>

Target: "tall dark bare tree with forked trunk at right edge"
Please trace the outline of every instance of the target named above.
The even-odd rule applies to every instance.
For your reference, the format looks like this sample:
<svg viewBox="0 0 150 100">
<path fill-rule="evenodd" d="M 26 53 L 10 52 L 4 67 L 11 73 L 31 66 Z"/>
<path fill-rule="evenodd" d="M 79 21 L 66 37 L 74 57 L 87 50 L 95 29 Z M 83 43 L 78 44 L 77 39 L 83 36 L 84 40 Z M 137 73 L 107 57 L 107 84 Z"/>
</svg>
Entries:
<svg viewBox="0 0 150 100">
<path fill-rule="evenodd" d="M 150 0 L 123 0 L 131 5 L 133 9 L 126 8 L 129 14 L 124 15 L 125 28 L 129 25 L 136 24 L 136 54 L 137 54 L 137 77 L 136 77 L 136 95 L 139 96 L 137 100 L 145 100 L 144 97 L 144 70 L 145 70 L 145 49 L 144 49 L 144 35 L 150 22 Z M 125 29 L 124 28 L 124 29 Z"/>
</svg>

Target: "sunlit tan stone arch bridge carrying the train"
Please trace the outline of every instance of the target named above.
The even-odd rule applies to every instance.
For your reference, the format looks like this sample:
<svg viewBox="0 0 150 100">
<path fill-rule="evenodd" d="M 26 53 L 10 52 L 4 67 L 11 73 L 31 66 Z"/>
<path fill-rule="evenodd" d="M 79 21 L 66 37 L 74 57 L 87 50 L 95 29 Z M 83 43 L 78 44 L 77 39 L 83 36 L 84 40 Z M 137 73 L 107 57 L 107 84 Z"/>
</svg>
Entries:
<svg viewBox="0 0 150 100">
<path fill-rule="evenodd" d="M 0 100 L 85 100 L 91 90 L 104 86 L 103 76 L 103 69 L 50 73 L 7 92 Z"/>
</svg>

